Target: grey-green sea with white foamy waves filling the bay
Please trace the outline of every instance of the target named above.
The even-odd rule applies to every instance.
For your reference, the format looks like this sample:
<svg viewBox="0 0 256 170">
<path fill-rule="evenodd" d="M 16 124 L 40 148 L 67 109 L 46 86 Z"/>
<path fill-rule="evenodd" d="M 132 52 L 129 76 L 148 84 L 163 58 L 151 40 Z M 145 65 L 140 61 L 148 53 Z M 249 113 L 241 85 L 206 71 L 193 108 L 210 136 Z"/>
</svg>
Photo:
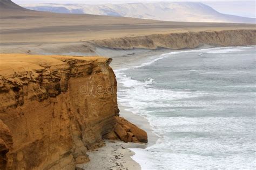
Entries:
<svg viewBox="0 0 256 170">
<path fill-rule="evenodd" d="M 256 168 L 255 46 L 174 51 L 116 70 L 118 102 L 159 136 L 143 169 Z"/>
</svg>

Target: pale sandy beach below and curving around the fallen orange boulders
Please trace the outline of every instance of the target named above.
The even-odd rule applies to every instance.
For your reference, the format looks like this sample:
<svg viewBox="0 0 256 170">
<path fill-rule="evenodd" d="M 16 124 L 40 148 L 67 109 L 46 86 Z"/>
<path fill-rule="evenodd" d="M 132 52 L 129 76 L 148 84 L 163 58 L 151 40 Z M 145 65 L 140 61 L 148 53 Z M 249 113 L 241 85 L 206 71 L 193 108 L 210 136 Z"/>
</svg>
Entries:
<svg viewBox="0 0 256 170">
<path fill-rule="evenodd" d="M 131 157 L 135 154 L 129 148 L 146 148 L 156 143 L 158 137 L 153 133 L 147 119 L 142 116 L 135 115 L 130 111 L 126 111 L 127 107 L 119 105 L 120 116 L 133 122 L 139 128 L 147 132 L 149 143 L 134 144 L 124 143 L 123 141 L 104 140 L 105 146 L 87 152 L 90 162 L 78 165 L 78 170 L 83 169 L 141 169 L 140 165 Z M 79 169 L 80 168 L 80 169 Z"/>
</svg>

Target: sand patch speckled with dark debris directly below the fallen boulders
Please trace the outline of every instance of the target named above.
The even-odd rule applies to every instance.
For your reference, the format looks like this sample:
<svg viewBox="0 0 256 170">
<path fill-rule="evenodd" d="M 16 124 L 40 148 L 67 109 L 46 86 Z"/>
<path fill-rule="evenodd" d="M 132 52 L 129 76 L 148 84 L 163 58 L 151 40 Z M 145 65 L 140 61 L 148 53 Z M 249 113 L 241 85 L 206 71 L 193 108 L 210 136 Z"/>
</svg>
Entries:
<svg viewBox="0 0 256 170">
<path fill-rule="evenodd" d="M 104 140 L 105 146 L 87 151 L 90 161 L 76 165 L 77 170 L 84 169 L 134 169 L 141 166 L 131 157 L 135 154 L 130 147 L 143 148 L 145 144 L 124 143 L 117 140 Z"/>
</svg>

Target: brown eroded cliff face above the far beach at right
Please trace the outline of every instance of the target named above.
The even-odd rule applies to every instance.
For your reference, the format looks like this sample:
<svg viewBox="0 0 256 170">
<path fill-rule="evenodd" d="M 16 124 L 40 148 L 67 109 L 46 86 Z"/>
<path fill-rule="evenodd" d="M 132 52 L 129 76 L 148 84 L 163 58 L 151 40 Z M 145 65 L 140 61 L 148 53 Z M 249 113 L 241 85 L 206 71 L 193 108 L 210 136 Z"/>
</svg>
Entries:
<svg viewBox="0 0 256 170">
<path fill-rule="evenodd" d="M 256 30 L 201 31 L 93 40 L 92 44 L 113 49 L 196 48 L 200 45 L 256 45 Z"/>
</svg>

